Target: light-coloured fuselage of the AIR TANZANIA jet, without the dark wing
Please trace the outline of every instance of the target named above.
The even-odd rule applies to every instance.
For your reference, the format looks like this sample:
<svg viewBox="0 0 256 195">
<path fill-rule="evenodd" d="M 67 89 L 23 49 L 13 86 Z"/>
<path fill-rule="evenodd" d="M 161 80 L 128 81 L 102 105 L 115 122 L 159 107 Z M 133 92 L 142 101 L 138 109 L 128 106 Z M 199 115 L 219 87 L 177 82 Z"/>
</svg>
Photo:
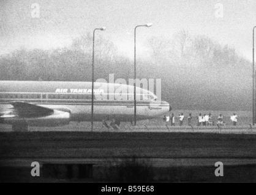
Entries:
<svg viewBox="0 0 256 195">
<path fill-rule="evenodd" d="M 92 100 L 91 93 L 86 90 L 72 90 L 82 83 L 65 82 L 68 85 L 65 90 L 63 82 L 0 82 L 0 113 L 8 112 L 12 108 L 10 102 L 27 102 L 29 104 L 39 105 L 41 107 L 53 108 L 55 110 L 65 110 L 70 113 L 70 121 L 91 121 Z M 7 85 L 12 85 L 8 87 Z M 13 85 L 17 85 L 13 87 Z M 48 88 L 43 88 L 45 85 Z M 85 88 L 91 87 L 90 84 Z M 110 85 L 110 84 L 108 84 Z M 114 85 L 114 84 L 113 84 Z M 20 87 L 19 87 L 20 86 Z M 31 89 L 29 89 L 31 87 Z M 116 87 L 116 86 L 115 86 Z M 131 86 L 128 86 L 130 88 Z M 57 90 L 56 90 L 57 89 Z M 141 90 L 138 88 L 138 91 Z M 70 93 L 75 91 L 75 93 Z M 134 119 L 134 100 L 132 94 L 122 94 L 125 99 L 109 99 L 111 96 L 108 91 L 100 91 L 106 99 L 94 97 L 94 120 L 102 121 L 111 118 L 120 121 L 132 121 Z M 128 90 L 127 90 L 128 91 Z M 144 90 L 145 91 L 145 90 Z M 86 93 L 83 93 L 86 92 Z M 146 91 L 148 98 L 138 94 L 136 101 L 137 119 L 151 119 L 156 116 L 164 115 L 170 111 L 168 102 L 156 101 L 156 96 Z M 95 96 L 95 95 L 94 95 Z M 132 97 L 132 99 L 130 98 Z M 143 97 L 140 99 L 140 97 Z M 151 98 L 150 98 L 151 97 Z M 129 99 L 130 98 L 130 99 Z"/>
</svg>

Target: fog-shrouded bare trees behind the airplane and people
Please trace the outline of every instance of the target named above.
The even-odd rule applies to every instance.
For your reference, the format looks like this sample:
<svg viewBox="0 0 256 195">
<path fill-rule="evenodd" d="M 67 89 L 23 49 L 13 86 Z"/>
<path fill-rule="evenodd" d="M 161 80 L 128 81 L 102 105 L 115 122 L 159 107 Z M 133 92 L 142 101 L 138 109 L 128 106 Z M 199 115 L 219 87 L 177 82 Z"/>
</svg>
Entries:
<svg viewBox="0 0 256 195">
<path fill-rule="evenodd" d="M 175 110 L 250 110 L 251 63 L 231 46 L 186 30 L 150 37 L 147 57 L 137 59 L 139 79 L 162 79 L 162 100 Z M 134 77 L 134 61 L 108 38 L 97 36 L 96 79 Z M 58 49 L 20 48 L 0 55 L 1 80 L 91 81 L 92 37 Z"/>
</svg>

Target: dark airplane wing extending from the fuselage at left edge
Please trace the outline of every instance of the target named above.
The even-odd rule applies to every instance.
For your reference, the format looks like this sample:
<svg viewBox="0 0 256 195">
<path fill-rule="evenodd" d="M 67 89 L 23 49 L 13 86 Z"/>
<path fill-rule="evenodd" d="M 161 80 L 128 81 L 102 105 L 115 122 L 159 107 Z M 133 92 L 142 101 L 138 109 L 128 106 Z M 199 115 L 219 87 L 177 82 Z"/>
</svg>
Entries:
<svg viewBox="0 0 256 195">
<path fill-rule="evenodd" d="M 10 102 L 10 104 L 13 105 L 13 108 L 7 111 L 5 115 L 2 115 L 1 118 L 36 118 L 49 116 L 54 113 L 54 110 L 51 108 L 45 108 L 26 102 Z"/>
</svg>

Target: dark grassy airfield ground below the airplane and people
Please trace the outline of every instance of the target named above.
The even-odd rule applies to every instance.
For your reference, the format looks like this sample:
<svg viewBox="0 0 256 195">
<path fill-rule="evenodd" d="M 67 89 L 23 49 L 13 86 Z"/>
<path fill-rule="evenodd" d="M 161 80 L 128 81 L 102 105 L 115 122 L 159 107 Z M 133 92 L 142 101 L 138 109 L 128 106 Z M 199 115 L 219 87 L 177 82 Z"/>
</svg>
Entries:
<svg viewBox="0 0 256 195">
<path fill-rule="evenodd" d="M 173 113 L 178 116 L 181 112 L 185 116 L 208 113 Z M 11 126 L 0 125 L 0 182 L 134 182 L 120 178 L 127 171 L 132 171 L 129 176 L 138 182 L 148 182 L 137 176 L 141 165 L 126 165 L 130 158 L 152 165 L 142 167 L 152 174 L 150 182 L 256 182 L 256 127 L 250 129 L 251 113 L 236 112 L 236 127 L 230 121 L 233 112 L 211 113 L 214 120 L 222 113 L 227 126 L 221 130 L 217 126 L 197 127 L 195 117 L 194 130 L 186 126 L 186 121 L 182 127 L 166 127 L 162 118 L 138 121 L 137 127 L 123 122 L 120 130 L 108 130 L 95 122 L 94 132 L 90 132 L 90 122 L 30 127 L 29 132 L 11 132 Z M 32 161 L 72 165 L 92 162 L 94 178 L 34 179 L 30 176 Z M 214 176 L 216 161 L 224 163 L 225 177 Z M 122 162 L 125 166 L 118 166 Z"/>
</svg>

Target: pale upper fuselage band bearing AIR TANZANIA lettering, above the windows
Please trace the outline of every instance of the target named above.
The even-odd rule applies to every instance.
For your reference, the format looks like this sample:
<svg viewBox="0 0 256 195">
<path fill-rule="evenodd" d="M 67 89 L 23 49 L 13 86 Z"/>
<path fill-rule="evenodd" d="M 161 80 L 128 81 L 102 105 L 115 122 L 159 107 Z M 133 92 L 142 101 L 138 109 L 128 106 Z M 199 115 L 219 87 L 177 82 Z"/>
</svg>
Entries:
<svg viewBox="0 0 256 195">
<path fill-rule="evenodd" d="M 37 82 L 37 81 L 0 81 L 0 94 L 1 93 L 28 93 L 28 94 L 48 94 L 56 96 L 58 94 L 65 95 L 88 95 L 91 96 L 91 82 Z M 134 93 L 134 83 L 132 85 L 120 85 L 119 83 L 94 83 L 94 93 L 110 94 L 117 89 L 127 89 L 127 93 Z M 136 87 L 141 94 L 148 94 L 150 99 L 156 99 L 156 96 L 148 90 L 143 90 L 140 87 Z M 103 89 L 103 91 L 102 91 Z M 83 92 L 78 92 L 78 91 Z M 59 92 L 58 92 L 59 91 Z M 77 92 L 75 92 L 77 91 Z M 131 91 L 131 92 L 130 92 Z M 122 94 L 124 95 L 124 94 Z M 138 94 L 140 95 L 140 94 Z"/>
</svg>

